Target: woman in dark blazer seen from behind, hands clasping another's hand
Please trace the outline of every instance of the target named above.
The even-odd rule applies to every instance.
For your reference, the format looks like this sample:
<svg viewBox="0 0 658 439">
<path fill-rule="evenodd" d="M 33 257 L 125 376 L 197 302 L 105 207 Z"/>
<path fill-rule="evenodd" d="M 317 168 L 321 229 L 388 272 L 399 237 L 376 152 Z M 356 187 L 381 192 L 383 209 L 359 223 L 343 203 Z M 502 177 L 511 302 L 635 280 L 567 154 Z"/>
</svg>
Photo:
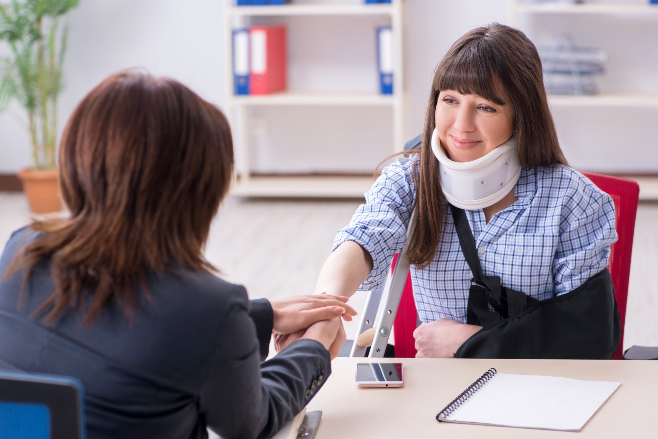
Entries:
<svg viewBox="0 0 658 439">
<path fill-rule="evenodd" d="M 232 148 L 224 115 L 184 85 L 111 76 L 64 130 L 70 215 L 7 243 L 0 369 L 79 379 L 90 439 L 206 438 L 207 427 L 266 438 L 331 372 L 345 340 L 338 316 L 355 315 L 347 298 L 249 304 L 203 257 Z M 301 339 L 260 363 L 272 329 Z"/>
</svg>

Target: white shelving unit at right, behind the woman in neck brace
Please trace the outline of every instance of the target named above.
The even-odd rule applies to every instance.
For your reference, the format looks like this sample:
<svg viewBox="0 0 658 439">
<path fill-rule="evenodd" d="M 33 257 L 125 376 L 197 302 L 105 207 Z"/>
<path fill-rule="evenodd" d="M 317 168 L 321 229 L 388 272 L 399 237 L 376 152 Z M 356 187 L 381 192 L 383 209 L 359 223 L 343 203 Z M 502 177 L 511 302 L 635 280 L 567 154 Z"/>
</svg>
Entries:
<svg viewBox="0 0 658 439">
<path fill-rule="evenodd" d="M 658 18 L 658 5 L 651 3 L 519 3 L 509 0 L 509 22 L 517 26 L 519 14 L 638 14 Z M 656 22 L 658 26 L 658 20 Z M 651 42 L 647 41 L 649 47 Z M 656 52 L 647 52 L 655 56 Z M 658 74 L 657 74 L 658 75 Z M 658 108 L 656 93 L 599 93 L 597 95 L 549 95 L 549 104 L 555 107 Z M 640 200 L 658 200 L 658 176 L 623 175 L 640 184 Z"/>
</svg>

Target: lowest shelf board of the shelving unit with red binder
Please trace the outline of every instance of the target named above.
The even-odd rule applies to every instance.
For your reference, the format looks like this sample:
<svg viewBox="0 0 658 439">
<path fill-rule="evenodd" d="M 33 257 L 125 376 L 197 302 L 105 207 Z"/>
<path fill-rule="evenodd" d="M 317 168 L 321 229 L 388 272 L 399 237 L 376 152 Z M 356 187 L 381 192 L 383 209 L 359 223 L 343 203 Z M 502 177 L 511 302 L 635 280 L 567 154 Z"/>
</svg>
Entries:
<svg viewBox="0 0 658 439">
<path fill-rule="evenodd" d="M 255 176 L 246 181 L 238 178 L 230 191 L 232 196 L 264 198 L 362 198 L 374 183 L 372 175 L 285 175 Z"/>
</svg>

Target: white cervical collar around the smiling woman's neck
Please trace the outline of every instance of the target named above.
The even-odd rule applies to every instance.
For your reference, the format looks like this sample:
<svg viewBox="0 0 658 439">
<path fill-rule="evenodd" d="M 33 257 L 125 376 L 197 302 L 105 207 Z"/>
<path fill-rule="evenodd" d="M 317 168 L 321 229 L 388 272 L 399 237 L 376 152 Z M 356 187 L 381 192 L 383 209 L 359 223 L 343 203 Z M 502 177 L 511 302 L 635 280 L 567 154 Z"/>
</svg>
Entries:
<svg viewBox="0 0 658 439">
<path fill-rule="evenodd" d="M 447 158 L 434 128 L 432 152 L 439 160 L 443 195 L 461 209 L 482 209 L 499 202 L 517 184 L 521 174 L 515 139 L 509 139 L 484 157 L 460 163 Z"/>
</svg>

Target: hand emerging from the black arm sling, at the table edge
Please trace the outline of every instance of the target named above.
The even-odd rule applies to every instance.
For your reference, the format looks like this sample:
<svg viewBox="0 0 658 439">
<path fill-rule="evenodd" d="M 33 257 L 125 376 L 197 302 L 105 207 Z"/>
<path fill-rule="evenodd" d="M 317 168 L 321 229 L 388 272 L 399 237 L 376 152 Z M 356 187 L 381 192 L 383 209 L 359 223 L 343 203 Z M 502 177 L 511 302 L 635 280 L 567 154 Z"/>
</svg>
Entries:
<svg viewBox="0 0 658 439">
<path fill-rule="evenodd" d="M 416 358 L 454 358 L 455 352 L 481 326 L 467 325 L 452 319 L 438 319 L 422 323 L 413 331 L 416 339 Z"/>
</svg>

